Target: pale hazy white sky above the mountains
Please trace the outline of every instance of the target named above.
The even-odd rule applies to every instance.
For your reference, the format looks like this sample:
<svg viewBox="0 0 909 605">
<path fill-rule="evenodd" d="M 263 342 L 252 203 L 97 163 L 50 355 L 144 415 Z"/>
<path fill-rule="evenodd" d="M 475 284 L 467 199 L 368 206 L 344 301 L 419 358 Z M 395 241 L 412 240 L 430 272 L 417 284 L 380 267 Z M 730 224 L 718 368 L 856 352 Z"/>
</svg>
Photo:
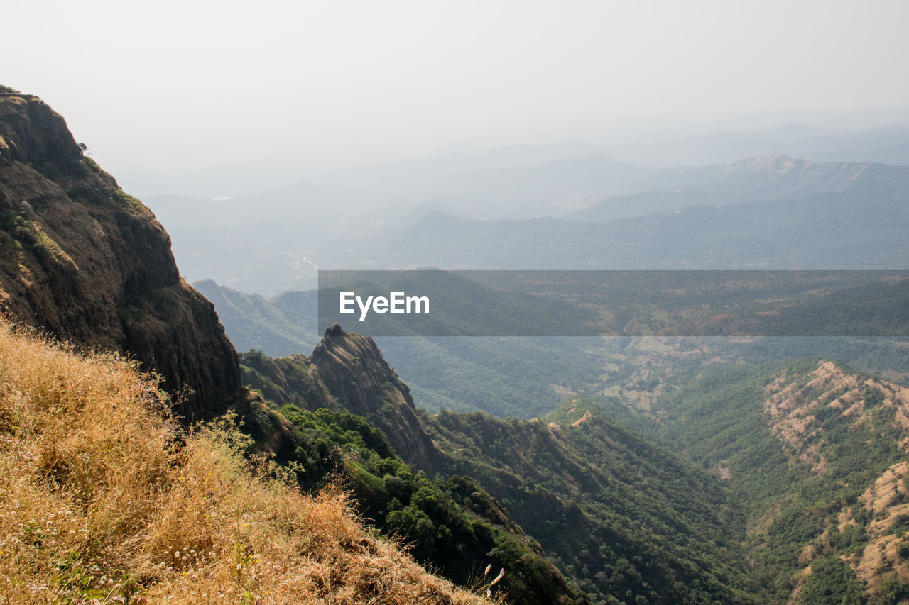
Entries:
<svg viewBox="0 0 909 605">
<path fill-rule="evenodd" d="M 35 0 L 3 13 L 0 84 L 42 96 L 112 171 L 909 106 L 903 0 Z"/>
</svg>

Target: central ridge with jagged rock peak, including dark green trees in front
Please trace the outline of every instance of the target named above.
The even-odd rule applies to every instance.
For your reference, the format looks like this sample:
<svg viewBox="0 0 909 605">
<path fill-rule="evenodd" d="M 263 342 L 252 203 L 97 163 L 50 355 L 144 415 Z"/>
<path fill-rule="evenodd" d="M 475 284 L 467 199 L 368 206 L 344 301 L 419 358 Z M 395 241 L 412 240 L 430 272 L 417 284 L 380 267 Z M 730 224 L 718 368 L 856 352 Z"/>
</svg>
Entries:
<svg viewBox="0 0 909 605">
<path fill-rule="evenodd" d="M 464 560 L 492 560 L 509 570 L 513 602 L 575 599 L 545 555 L 594 602 L 754 599 L 731 492 L 591 404 L 564 403 L 545 422 L 417 415 L 372 339 L 338 326 L 311 357 L 241 362 L 245 383 L 293 422 L 308 476 L 335 451 L 376 525 L 451 580 L 466 580 Z"/>
</svg>

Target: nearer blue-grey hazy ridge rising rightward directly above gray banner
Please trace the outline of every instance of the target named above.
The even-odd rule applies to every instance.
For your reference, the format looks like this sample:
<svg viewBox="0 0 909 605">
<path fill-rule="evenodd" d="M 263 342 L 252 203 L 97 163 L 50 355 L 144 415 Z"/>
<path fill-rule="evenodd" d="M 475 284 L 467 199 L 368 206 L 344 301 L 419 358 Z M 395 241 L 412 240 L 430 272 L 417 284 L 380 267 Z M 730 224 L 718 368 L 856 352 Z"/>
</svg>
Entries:
<svg viewBox="0 0 909 605">
<path fill-rule="evenodd" d="M 796 183 L 780 196 L 608 223 L 431 213 L 376 256 L 387 266 L 420 259 L 446 269 L 900 267 L 909 253 L 909 168 L 859 170 L 829 186 L 803 191 Z M 835 188 L 843 183 L 853 186 Z M 659 203 L 666 197 L 654 195 Z"/>
</svg>

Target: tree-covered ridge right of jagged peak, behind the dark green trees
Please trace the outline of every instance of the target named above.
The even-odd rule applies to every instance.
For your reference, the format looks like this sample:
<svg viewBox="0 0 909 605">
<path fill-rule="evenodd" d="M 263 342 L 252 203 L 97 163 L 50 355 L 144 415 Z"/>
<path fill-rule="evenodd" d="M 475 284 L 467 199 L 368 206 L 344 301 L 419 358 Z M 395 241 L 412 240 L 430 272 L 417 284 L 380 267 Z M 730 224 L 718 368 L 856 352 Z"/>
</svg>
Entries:
<svg viewBox="0 0 909 605">
<path fill-rule="evenodd" d="M 755 598 L 732 494 L 595 406 L 565 402 L 544 421 L 445 411 L 423 419 L 453 470 L 502 501 L 595 599 Z"/>
</svg>

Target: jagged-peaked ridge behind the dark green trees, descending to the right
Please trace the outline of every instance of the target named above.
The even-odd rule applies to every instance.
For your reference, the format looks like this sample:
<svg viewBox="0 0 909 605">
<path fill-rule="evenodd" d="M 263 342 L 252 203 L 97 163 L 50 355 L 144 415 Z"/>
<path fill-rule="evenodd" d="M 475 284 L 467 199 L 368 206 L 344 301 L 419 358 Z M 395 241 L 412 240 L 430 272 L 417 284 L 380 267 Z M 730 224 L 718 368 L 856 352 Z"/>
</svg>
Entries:
<svg viewBox="0 0 909 605">
<path fill-rule="evenodd" d="M 549 418 L 529 422 L 482 413 L 430 417 L 416 411 L 372 339 L 337 326 L 311 358 L 271 360 L 250 352 L 242 360 L 245 382 L 282 404 L 288 418 L 295 418 L 293 407 L 318 415 L 325 414 L 319 408 L 340 411 L 365 402 L 357 412 L 386 431 L 405 461 L 429 476 L 469 476 L 482 485 L 594 599 L 753 598 L 736 546 L 744 522 L 732 495 L 710 474 L 595 406 L 568 402 Z M 352 389 L 363 395 L 345 399 Z M 587 413 L 575 413 L 582 408 Z M 642 484 L 642 477 L 649 479 Z M 380 526 L 394 525 L 400 516 L 390 504 L 394 481 L 361 481 L 371 487 L 355 487 L 355 493 L 364 494 L 370 514 Z M 414 520 L 423 514 L 436 519 L 422 503 L 402 511 Z"/>
</svg>

